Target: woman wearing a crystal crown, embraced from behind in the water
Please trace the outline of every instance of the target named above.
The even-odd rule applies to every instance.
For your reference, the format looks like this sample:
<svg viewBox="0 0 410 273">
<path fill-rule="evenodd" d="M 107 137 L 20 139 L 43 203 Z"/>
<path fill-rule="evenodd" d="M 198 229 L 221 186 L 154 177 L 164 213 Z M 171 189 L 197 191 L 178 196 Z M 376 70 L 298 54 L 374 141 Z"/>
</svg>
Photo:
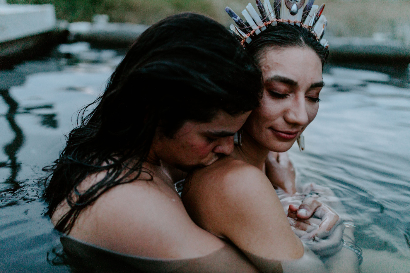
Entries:
<svg viewBox="0 0 410 273">
<path fill-rule="evenodd" d="M 327 21 L 321 15 L 324 5 L 318 7 L 313 2 L 275 0 L 272 7 L 269 0 L 264 4 L 256 0 L 259 14 L 249 4 L 242 11 L 245 20 L 226 8 L 236 23 L 230 29 L 262 70 L 264 91 L 260 106 L 238 133 L 234 152 L 196 170 L 182 191 L 184 205 L 196 224 L 234 243 L 262 272 L 281 272 L 282 268 L 287 272 L 301 272 L 300 268 L 307 272 L 355 272 L 361 262 L 360 249 L 348 236 L 338 243 L 342 250 L 334 255 L 323 249 L 316 251 L 312 242 L 326 238 L 330 230 L 323 230 L 314 218 L 301 221 L 305 218 L 303 209 L 297 210 L 293 204 L 284 204 L 286 210 L 289 207 L 286 215 L 265 175 L 271 171 L 265 167 L 269 156 L 277 157 L 278 164 L 286 163 L 286 156 L 279 152 L 289 150 L 296 140 L 304 148 L 301 134 L 319 108 L 322 68 L 328 55 L 328 43 L 322 39 Z M 319 191 L 311 186 L 298 196 L 312 196 L 312 189 Z M 330 212 L 322 206 L 316 214 L 328 222 L 340 221 Z M 295 233 L 317 255 L 305 248 L 303 256 L 303 244 Z M 353 232 L 346 228 L 344 233 L 352 236 Z M 338 267 L 342 262 L 343 267 Z"/>
</svg>

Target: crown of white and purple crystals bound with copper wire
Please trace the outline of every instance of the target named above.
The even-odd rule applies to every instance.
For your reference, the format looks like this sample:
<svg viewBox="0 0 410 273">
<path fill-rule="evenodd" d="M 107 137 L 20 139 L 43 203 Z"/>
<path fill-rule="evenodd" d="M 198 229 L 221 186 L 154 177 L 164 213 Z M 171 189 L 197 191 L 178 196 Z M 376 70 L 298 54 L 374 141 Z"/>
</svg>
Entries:
<svg viewBox="0 0 410 273">
<path fill-rule="evenodd" d="M 262 2 L 260 0 L 256 0 L 256 5 L 260 11 L 260 14 L 262 17 L 258 16 L 256 14 L 255 9 L 251 5 L 251 3 L 246 6 L 246 9 L 251 12 L 251 15 L 248 14 L 248 11 L 244 9 L 242 11 L 242 14 L 246 17 L 247 15 L 247 20 L 242 20 L 237 14 L 232 11 L 229 7 L 226 7 L 225 11 L 228 13 L 228 15 L 235 21 L 236 25 L 231 24 L 230 29 L 231 32 L 240 40 L 241 45 L 245 46 L 245 43 L 250 43 L 252 41 L 251 36 L 258 35 L 260 32 L 264 31 L 266 27 L 269 25 L 277 23 L 288 23 L 292 25 L 298 25 L 299 27 L 303 27 L 316 37 L 317 41 L 321 43 L 321 45 L 325 48 L 328 48 L 329 44 L 326 39 L 322 39 L 324 31 L 326 30 L 327 26 L 327 20 L 326 17 L 322 15 L 323 9 L 324 9 L 324 4 L 322 4 L 320 7 L 319 6 L 314 6 L 313 2 L 314 0 L 306 0 L 307 3 L 305 4 L 305 0 L 274 0 L 275 1 L 275 7 L 272 9 L 271 4 L 269 0 L 264 0 L 264 5 L 262 5 Z M 290 20 L 290 19 L 285 19 L 285 18 L 276 18 L 278 15 L 282 15 L 282 12 L 280 9 L 285 9 L 291 6 L 294 8 L 296 4 L 300 5 L 303 7 L 302 10 L 302 15 L 301 19 L 302 20 Z M 314 8 L 313 14 L 311 13 L 312 9 Z M 266 10 L 268 9 L 268 10 Z M 271 9 L 271 11 L 269 11 Z M 301 8 L 300 8 L 301 9 Z M 290 16 L 296 16 L 299 12 L 300 9 L 296 9 L 296 13 L 292 14 L 291 9 L 289 9 L 289 14 Z M 312 15 L 311 15 L 312 14 Z M 258 19 L 255 18 L 257 16 Z M 289 17 L 290 17 L 289 16 Z M 272 19 L 270 19 L 271 17 Z M 319 33 L 316 31 L 316 26 L 317 23 L 319 23 L 319 19 L 321 19 L 321 23 L 323 24 L 322 27 L 319 25 Z M 305 24 L 309 20 L 309 23 Z M 249 22 L 251 21 L 251 22 Z M 252 30 L 250 30 L 252 28 Z M 242 31 L 244 30 L 244 31 Z"/>
</svg>

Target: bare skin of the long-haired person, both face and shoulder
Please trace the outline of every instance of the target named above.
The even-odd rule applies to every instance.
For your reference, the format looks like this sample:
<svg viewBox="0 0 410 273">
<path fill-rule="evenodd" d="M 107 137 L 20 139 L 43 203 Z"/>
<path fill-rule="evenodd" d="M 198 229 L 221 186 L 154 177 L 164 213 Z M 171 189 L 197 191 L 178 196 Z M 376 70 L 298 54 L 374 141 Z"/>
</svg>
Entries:
<svg viewBox="0 0 410 273">
<path fill-rule="evenodd" d="M 256 272 L 241 253 L 191 220 L 173 180 L 161 166 L 162 161 L 185 168 L 208 165 L 221 154 L 229 154 L 233 134 L 248 115 L 231 116 L 221 110 L 207 123 L 187 121 L 173 138 L 158 131 L 143 165 L 148 173 L 103 193 L 80 213 L 69 235 L 120 253 L 155 258 L 195 258 L 229 248 L 228 253 L 237 255 L 231 264 Z M 78 190 L 85 191 L 104 176 L 104 172 L 89 175 Z M 67 202 L 60 203 L 52 222 L 56 224 L 67 210 Z"/>
</svg>

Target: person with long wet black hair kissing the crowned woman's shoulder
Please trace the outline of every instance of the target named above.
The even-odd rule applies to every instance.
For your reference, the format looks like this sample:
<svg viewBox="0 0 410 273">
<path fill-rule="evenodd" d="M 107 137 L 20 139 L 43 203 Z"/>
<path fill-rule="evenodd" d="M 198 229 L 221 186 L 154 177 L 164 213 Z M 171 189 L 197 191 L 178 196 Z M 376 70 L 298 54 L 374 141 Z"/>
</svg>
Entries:
<svg viewBox="0 0 410 273">
<path fill-rule="evenodd" d="M 84 107 L 59 159 L 45 168 L 47 214 L 68 235 L 65 246 L 76 241 L 168 260 L 218 253 L 211 257 L 213 272 L 255 272 L 236 248 L 189 218 L 173 184 L 180 173 L 173 170 L 208 166 L 230 154 L 261 90 L 253 58 L 211 18 L 178 14 L 149 27 L 104 93 Z M 141 259 L 137 264 L 146 262 Z M 203 269 L 196 260 L 190 264 Z"/>
</svg>

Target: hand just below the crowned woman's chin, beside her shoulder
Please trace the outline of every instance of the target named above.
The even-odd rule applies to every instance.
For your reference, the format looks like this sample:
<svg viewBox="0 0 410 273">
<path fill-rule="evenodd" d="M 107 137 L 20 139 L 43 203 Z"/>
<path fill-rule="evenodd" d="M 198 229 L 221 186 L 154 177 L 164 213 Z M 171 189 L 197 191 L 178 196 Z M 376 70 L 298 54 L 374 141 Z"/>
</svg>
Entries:
<svg viewBox="0 0 410 273">
<path fill-rule="evenodd" d="M 269 152 L 265 166 L 266 176 L 274 187 L 279 187 L 289 194 L 296 193 L 295 169 L 287 152 Z"/>
</svg>

